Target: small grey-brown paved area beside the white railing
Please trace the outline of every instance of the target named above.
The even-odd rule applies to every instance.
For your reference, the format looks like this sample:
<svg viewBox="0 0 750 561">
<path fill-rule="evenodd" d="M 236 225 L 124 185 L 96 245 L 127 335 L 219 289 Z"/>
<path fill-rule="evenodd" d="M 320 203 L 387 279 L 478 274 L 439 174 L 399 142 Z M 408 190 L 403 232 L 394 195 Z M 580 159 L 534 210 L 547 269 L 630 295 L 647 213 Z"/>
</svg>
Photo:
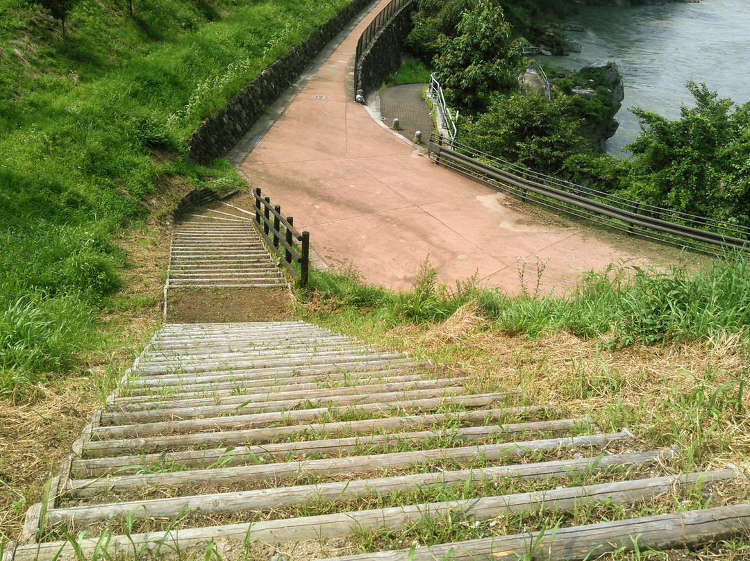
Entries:
<svg viewBox="0 0 750 561">
<path fill-rule="evenodd" d="M 398 118 L 401 124 L 398 133 L 407 140 L 413 140 L 414 133 L 421 130 L 422 141 L 426 143 L 434 130 L 430 110 L 422 98 L 422 90 L 427 87 L 427 84 L 405 84 L 380 92 L 380 116 L 383 122 L 390 127 L 393 119 Z"/>
</svg>

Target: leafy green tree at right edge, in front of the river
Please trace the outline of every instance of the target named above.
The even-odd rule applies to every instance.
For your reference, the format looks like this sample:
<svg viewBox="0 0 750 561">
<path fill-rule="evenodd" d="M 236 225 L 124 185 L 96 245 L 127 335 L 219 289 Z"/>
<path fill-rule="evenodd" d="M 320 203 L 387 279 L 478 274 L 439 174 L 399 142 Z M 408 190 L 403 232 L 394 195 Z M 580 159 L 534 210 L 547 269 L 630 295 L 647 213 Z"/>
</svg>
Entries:
<svg viewBox="0 0 750 561">
<path fill-rule="evenodd" d="M 679 119 L 631 110 L 641 133 L 629 193 L 654 205 L 750 225 L 750 103 L 718 98 L 705 84 L 686 84 L 696 107 Z"/>
</svg>

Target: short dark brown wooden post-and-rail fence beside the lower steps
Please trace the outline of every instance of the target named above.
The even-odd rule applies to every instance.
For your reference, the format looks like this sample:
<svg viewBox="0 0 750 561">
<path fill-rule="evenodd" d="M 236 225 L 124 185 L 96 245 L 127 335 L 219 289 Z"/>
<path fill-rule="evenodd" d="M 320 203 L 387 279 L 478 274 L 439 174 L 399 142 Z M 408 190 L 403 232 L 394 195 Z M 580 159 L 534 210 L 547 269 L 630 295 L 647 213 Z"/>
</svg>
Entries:
<svg viewBox="0 0 750 561">
<path fill-rule="evenodd" d="M 260 187 L 253 190 L 253 197 L 255 199 L 253 221 L 258 232 L 266 240 L 271 251 L 284 264 L 292 278 L 305 286 L 308 284 L 310 269 L 310 233 L 299 233 L 294 228 L 294 218 L 282 216 L 281 206 L 272 206 L 271 199 L 261 195 Z M 299 243 L 299 250 L 295 247 L 295 242 Z M 299 272 L 293 263 L 299 264 Z"/>
</svg>

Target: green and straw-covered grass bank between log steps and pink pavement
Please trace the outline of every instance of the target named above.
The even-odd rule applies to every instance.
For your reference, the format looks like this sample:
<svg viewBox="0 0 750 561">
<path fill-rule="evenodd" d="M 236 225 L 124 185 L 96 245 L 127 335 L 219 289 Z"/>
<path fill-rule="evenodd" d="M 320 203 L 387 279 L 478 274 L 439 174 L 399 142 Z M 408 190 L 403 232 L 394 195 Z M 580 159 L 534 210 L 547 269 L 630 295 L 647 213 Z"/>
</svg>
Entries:
<svg viewBox="0 0 750 561">
<path fill-rule="evenodd" d="M 442 287 L 426 264 L 404 293 L 315 272 L 302 315 L 517 388 L 519 403 L 554 402 L 602 431 L 677 445 L 679 469 L 748 470 L 748 266 L 735 256 L 698 270 L 612 268 L 565 297 L 539 293 L 526 275 L 515 298 Z"/>
</svg>

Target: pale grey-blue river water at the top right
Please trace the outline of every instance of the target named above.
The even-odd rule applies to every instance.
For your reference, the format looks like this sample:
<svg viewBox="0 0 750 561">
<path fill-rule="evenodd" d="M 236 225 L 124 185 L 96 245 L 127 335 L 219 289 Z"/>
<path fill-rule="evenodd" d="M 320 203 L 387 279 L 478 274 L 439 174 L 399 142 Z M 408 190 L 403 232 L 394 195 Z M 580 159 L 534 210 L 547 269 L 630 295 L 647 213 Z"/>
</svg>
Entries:
<svg viewBox="0 0 750 561">
<path fill-rule="evenodd" d="M 640 133 L 629 107 L 678 118 L 681 102 L 694 107 L 685 83 L 706 83 L 721 98 L 750 101 L 750 0 L 701 0 L 661 6 L 582 6 L 568 31 L 583 52 L 542 57 L 563 68 L 613 60 L 624 75 L 619 129 L 607 141 L 616 154 Z"/>
</svg>

